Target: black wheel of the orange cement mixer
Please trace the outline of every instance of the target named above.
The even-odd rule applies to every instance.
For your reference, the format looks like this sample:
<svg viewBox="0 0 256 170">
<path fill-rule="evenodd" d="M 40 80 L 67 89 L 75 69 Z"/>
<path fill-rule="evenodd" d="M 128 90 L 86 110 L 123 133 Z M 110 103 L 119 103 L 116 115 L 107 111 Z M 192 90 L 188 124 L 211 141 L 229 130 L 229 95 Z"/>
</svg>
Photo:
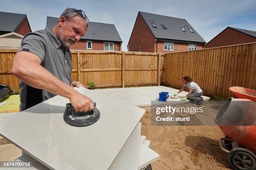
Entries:
<svg viewBox="0 0 256 170">
<path fill-rule="evenodd" d="M 235 148 L 228 153 L 228 162 L 234 170 L 256 170 L 256 156 L 245 148 Z"/>
</svg>

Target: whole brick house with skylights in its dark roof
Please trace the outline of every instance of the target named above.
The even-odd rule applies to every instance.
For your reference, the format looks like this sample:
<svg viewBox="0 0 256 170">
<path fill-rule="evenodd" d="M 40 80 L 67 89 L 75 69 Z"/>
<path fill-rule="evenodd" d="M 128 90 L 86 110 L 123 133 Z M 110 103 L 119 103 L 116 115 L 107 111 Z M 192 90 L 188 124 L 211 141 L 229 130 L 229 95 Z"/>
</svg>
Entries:
<svg viewBox="0 0 256 170">
<path fill-rule="evenodd" d="M 178 52 L 202 49 L 205 40 L 185 19 L 138 12 L 128 51 Z"/>
</svg>

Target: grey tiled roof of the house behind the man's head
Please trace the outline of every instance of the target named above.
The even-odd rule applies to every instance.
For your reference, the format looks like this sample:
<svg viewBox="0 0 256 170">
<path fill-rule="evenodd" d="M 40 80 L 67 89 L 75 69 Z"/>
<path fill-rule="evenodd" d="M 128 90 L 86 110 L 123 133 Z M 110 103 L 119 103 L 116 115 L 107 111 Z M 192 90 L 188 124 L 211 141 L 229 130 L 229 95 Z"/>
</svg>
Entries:
<svg viewBox="0 0 256 170">
<path fill-rule="evenodd" d="M 54 28 L 58 21 L 58 18 L 47 17 L 46 25 Z M 95 23 L 90 22 L 89 28 L 84 36 L 81 37 L 82 40 L 102 40 L 102 41 L 114 41 L 122 42 L 118 31 L 114 24 L 105 23 Z"/>
</svg>

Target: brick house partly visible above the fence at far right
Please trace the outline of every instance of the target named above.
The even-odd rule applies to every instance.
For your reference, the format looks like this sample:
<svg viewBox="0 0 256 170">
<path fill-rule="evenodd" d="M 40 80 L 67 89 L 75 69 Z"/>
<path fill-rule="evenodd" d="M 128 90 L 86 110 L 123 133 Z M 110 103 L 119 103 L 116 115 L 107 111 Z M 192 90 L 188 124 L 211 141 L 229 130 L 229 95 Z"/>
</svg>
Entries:
<svg viewBox="0 0 256 170">
<path fill-rule="evenodd" d="M 205 48 L 245 44 L 249 42 L 256 42 L 256 31 L 227 27 L 207 42 Z"/>
</svg>

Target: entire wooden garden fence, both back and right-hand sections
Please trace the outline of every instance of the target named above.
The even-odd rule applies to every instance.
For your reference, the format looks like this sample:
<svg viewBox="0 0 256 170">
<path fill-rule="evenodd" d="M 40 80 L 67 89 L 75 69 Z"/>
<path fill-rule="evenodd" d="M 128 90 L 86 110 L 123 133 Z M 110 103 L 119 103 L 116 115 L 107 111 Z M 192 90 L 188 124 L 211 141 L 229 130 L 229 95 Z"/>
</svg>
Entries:
<svg viewBox="0 0 256 170">
<path fill-rule="evenodd" d="M 17 50 L 0 49 L 0 84 L 19 92 L 11 74 Z M 181 88 L 191 76 L 205 95 L 232 96 L 232 86 L 256 90 L 256 43 L 174 53 L 104 52 L 72 50 L 72 75 L 84 86 L 96 88 L 160 85 Z M 88 86 L 87 86 L 88 87 Z"/>
</svg>

